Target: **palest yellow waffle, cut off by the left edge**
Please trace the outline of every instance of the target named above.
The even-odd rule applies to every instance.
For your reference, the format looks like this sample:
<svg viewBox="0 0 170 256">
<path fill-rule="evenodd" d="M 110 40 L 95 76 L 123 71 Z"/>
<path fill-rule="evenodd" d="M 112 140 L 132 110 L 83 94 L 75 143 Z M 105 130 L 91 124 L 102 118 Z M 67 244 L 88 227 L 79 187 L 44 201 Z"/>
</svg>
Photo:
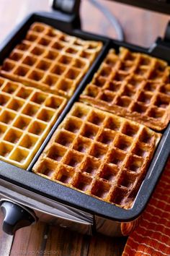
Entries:
<svg viewBox="0 0 170 256">
<path fill-rule="evenodd" d="M 26 169 L 66 98 L 0 77 L 0 159 Z"/>
</svg>

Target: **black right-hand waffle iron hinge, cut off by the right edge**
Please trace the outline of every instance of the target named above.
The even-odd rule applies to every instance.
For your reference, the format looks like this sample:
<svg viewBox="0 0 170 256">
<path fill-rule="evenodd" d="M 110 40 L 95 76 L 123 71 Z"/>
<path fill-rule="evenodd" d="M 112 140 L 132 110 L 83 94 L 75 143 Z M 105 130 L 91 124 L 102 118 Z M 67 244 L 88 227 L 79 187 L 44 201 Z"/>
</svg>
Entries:
<svg viewBox="0 0 170 256">
<path fill-rule="evenodd" d="M 170 61 L 170 21 L 166 26 L 164 38 L 157 38 L 148 51 L 158 58 Z"/>
</svg>

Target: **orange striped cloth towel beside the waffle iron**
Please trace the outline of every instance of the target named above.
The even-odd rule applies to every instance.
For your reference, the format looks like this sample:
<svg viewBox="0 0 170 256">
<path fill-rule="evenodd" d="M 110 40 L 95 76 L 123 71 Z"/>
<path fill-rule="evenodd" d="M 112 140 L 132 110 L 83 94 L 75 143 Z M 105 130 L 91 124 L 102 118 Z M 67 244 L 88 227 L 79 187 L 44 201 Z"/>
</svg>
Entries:
<svg viewBox="0 0 170 256">
<path fill-rule="evenodd" d="M 170 158 L 122 256 L 170 255 Z"/>
</svg>

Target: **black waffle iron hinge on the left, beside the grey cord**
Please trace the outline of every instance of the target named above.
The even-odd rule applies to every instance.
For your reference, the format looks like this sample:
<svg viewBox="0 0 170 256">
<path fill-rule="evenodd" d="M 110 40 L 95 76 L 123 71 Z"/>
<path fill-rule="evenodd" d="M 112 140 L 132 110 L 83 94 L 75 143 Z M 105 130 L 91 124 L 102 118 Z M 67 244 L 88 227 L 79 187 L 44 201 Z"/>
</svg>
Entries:
<svg viewBox="0 0 170 256">
<path fill-rule="evenodd" d="M 67 24 L 71 30 L 81 29 L 80 4 L 81 0 L 50 0 L 50 6 L 56 14 L 67 17 Z"/>
</svg>

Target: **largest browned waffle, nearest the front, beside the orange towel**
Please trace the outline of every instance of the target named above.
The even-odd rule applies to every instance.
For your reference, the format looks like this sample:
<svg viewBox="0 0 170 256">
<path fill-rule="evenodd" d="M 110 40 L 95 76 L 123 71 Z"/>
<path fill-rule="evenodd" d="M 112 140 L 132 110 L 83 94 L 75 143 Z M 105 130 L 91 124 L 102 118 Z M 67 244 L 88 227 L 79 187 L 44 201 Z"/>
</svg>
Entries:
<svg viewBox="0 0 170 256">
<path fill-rule="evenodd" d="M 33 170 L 130 208 L 160 137 L 142 124 L 75 103 Z"/>
</svg>

